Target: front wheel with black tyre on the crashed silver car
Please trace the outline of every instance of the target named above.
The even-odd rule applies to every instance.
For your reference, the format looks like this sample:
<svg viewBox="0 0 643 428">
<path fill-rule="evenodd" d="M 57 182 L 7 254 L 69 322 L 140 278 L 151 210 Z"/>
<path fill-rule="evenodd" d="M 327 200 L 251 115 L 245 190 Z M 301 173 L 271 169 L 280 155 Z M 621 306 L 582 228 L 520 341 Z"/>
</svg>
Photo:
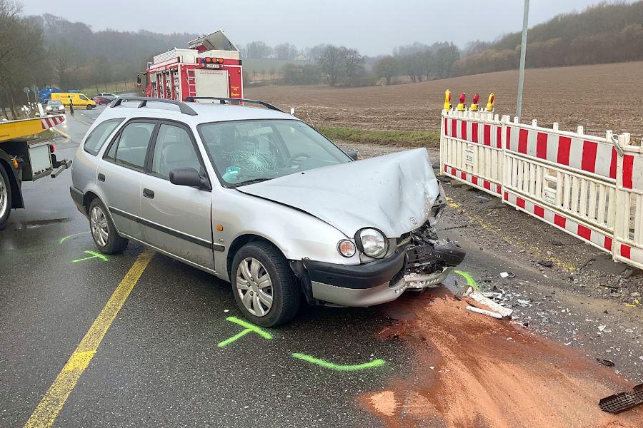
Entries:
<svg viewBox="0 0 643 428">
<path fill-rule="evenodd" d="M 236 305 L 256 325 L 283 325 L 299 310 L 299 284 L 284 255 L 270 243 L 241 247 L 232 261 L 231 283 Z"/>
</svg>

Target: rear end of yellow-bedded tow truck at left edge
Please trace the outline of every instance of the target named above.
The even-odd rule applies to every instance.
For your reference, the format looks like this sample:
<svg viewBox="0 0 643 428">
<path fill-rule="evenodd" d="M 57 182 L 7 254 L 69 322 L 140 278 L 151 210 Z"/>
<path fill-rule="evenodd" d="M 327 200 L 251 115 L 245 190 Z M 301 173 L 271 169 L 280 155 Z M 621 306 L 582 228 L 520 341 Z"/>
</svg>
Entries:
<svg viewBox="0 0 643 428">
<path fill-rule="evenodd" d="M 0 121 L 0 230 L 12 208 L 25 208 L 21 185 L 51 176 L 56 178 L 71 166 L 58 161 L 53 138 L 41 133 L 65 120 L 64 115 Z"/>
</svg>

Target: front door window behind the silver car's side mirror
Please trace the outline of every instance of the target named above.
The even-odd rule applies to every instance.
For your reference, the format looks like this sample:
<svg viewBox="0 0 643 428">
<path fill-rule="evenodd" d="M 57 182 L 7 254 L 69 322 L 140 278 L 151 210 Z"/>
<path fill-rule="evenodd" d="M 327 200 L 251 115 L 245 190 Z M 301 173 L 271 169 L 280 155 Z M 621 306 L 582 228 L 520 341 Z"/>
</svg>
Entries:
<svg viewBox="0 0 643 428">
<path fill-rule="evenodd" d="M 167 180 L 170 171 L 176 168 L 194 168 L 199 173 L 204 173 L 188 131 L 180 126 L 164 123 L 156 137 L 151 172 Z"/>
</svg>

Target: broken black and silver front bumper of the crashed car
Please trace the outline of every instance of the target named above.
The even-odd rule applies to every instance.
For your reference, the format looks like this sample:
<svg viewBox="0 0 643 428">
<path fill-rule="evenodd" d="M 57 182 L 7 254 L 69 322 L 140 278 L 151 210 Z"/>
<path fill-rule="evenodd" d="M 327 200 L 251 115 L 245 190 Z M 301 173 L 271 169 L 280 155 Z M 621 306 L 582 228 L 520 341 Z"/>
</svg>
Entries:
<svg viewBox="0 0 643 428">
<path fill-rule="evenodd" d="M 464 251 L 454 243 L 425 247 L 411 245 L 362 265 L 303 260 L 311 297 L 334 305 L 372 306 L 391 302 L 409 288 L 435 287 L 462 262 Z"/>
</svg>

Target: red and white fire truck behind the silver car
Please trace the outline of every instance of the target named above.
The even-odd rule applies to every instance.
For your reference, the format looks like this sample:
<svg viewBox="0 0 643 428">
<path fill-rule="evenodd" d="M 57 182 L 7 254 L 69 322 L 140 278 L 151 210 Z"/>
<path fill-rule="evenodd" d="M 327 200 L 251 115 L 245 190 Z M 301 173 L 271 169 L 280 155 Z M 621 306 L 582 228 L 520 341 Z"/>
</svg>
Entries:
<svg viewBox="0 0 643 428">
<path fill-rule="evenodd" d="M 239 49 L 223 31 L 174 48 L 147 63 L 146 95 L 186 101 L 188 97 L 243 98 Z"/>
</svg>

